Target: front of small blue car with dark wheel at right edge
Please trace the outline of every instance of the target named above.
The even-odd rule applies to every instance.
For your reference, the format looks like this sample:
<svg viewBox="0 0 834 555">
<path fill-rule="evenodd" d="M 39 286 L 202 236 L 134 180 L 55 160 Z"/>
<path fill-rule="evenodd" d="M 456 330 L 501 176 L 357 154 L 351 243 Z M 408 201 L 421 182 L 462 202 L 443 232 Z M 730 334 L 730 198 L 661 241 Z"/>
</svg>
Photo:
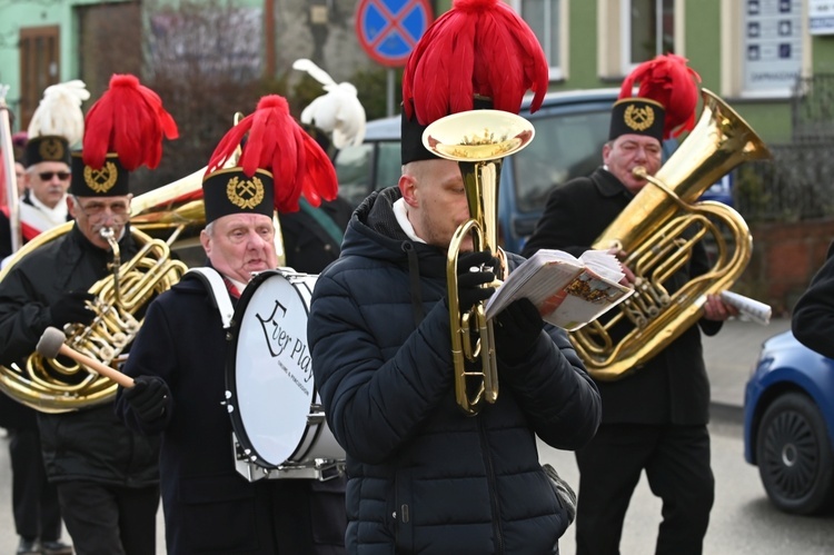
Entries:
<svg viewBox="0 0 834 555">
<path fill-rule="evenodd" d="M 834 360 L 791 331 L 767 339 L 744 395 L 744 457 L 781 511 L 834 505 Z"/>
</svg>

